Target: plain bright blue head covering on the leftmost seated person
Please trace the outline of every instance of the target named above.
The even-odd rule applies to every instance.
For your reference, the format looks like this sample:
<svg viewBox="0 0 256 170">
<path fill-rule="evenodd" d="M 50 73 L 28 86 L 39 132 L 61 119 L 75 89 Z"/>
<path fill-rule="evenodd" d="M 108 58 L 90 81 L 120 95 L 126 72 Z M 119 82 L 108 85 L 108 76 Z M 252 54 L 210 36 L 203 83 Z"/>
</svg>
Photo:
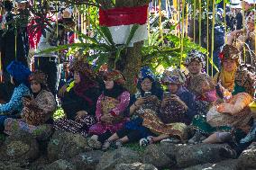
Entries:
<svg viewBox="0 0 256 170">
<path fill-rule="evenodd" d="M 18 61 L 12 61 L 6 67 L 6 70 L 18 83 L 26 83 L 31 75 L 30 69 Z"/>
</svg>

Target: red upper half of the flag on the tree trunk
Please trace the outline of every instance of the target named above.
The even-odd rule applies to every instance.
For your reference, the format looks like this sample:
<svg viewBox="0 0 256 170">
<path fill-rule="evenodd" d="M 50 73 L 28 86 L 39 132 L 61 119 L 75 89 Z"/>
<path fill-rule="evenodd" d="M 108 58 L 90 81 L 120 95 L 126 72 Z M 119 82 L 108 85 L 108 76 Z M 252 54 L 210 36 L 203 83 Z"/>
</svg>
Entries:
<svg viewBox="0 0 256 170">
<path fill-rule="evenodd" d="M 101 26 L 118 26 L 130 24 L 145 24 L 148 18 L 148 5 L 139 7 L 121 7 L 99 10 L 99 24 Z"/>
</svg>

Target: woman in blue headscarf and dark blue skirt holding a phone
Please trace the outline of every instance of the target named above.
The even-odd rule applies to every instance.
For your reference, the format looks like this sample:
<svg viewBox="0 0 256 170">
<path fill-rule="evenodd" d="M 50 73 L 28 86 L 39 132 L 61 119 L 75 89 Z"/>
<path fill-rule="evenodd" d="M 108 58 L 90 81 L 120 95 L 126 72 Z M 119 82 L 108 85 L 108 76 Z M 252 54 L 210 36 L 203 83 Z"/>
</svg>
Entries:
<svg viewBox="0 0 256 170">
<path fill-rule="evenodd" d="M 160 106 L 163 91 L 158 87 L 155 79 L 149 67 L 142 67 L 137 83 L 138 91 L 132 95 L 128 108 L 132 120 L 125 123 L 121 130 L 117 130 L 114 135 L 105 141 L 102 147 L 104 150 L 111 147 L 112 144 L 115 148 L 120 148 L 123 143 L 136 142 L 153 135 L 151 130 L 142 126 L 143 119 L 140 112 L 146 109 L 157 111 Z M 151 94 L 146 96 L 149 93 Z"/>
</svg>

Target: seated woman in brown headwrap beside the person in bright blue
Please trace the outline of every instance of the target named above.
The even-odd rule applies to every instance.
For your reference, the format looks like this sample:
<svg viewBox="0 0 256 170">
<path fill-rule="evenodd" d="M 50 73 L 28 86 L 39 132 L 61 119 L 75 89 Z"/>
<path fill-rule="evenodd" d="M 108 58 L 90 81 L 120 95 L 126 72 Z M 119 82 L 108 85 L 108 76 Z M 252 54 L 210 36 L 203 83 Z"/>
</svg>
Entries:
<svg viewBox="0 0 256 170">
<path fill-rule="evenodd" d="M 23 97 L 22 119 L 7 118 L 5 120 L 5 133 L 8 135 L 24 130 L 39 137 L 42 134 L 45 135 L 43 133 L 45 130 L 51 129 L 51 117 L 56 110 L 56 102 L 47 87 L 47 78 L 44 73 L 36 71 L 32 73 L 29 80 L 32 95 Z"/>
</svg>

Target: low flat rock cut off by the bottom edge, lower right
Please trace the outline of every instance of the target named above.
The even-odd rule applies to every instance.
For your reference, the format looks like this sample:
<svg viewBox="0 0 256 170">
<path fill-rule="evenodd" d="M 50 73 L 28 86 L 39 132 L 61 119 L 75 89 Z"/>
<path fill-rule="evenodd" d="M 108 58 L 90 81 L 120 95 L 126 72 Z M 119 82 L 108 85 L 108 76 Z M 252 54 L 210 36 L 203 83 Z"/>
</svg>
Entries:
<svg viewBox="0 0 256 170">
<path fill-rule="evenodd" d="M 198 170 L 198 169 L 211 169 L 211 170 L 238 170 L 238 160 L 237 159 L 228 159 L 222 162 L 211 164 L 207 163 L 199 166 L 187 167 L 184 170 Z"/>
</svg>

